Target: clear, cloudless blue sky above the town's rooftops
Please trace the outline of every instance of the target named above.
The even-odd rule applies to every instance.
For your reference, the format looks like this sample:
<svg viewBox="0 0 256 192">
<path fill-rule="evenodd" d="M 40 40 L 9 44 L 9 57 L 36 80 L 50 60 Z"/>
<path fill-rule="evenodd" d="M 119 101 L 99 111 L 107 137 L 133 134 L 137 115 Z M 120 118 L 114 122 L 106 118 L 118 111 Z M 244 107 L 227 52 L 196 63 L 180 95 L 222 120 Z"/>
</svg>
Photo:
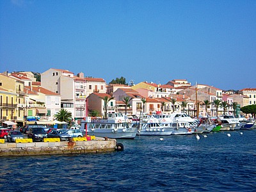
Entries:
<svg viewBox="0 0 256 192">
<path fill-rule="evenodd" d="M 256 1 L 0 1 L 0 72 L 255 88 Z"/>
</svg>

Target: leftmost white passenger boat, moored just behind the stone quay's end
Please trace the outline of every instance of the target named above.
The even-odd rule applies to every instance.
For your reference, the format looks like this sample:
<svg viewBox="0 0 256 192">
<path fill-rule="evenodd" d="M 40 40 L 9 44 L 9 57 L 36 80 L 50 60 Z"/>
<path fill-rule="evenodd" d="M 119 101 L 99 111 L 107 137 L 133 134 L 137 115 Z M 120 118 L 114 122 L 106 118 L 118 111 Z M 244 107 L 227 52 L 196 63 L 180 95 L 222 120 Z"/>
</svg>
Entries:
<svg viewBox="0 0 256 192">
<path fill-rule="evenodd" d="M 131 126 L 131 121 L 124 113 L 108 113 L 108 118 L 87 118 L 81 121 L 81 130 L 91 136 L 113 139 L 134 139 L 138 128 Z"/>
</svg>

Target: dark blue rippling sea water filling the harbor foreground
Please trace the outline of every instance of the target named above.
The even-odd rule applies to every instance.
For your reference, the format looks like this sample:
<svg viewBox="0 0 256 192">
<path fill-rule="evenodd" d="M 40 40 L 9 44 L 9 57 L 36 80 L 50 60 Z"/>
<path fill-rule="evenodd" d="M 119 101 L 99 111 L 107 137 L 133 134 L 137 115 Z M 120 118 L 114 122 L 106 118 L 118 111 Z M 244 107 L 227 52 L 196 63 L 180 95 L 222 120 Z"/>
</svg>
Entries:
<svg viewBox="0 0 256 192">
<path fill-rule="evenodd" d="M 0 191 L 256 191 L 255 141 L 256 130 L 136 136 L 121 152 L 1 157 Z"/>
</svg>

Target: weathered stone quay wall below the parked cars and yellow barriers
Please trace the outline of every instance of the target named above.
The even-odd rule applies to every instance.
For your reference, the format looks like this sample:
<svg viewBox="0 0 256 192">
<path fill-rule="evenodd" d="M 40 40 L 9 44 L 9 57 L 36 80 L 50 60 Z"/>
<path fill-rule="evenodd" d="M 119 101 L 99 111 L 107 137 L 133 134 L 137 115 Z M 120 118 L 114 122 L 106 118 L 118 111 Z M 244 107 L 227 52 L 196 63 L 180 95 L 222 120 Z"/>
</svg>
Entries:
<svg viewBox="0 0 256 192">
<path fill-rule="evenodd" d="M 116 140 L 0 143 L 0 157 L 111 152 Z"/>
</svg>

